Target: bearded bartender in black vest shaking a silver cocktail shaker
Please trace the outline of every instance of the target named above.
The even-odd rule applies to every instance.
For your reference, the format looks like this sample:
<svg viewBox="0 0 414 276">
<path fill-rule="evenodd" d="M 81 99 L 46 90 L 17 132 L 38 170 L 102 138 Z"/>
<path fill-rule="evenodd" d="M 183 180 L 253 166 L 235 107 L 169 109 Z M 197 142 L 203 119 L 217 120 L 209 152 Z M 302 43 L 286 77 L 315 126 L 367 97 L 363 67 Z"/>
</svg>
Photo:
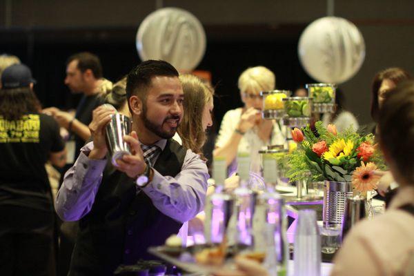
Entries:
<svg viewBox="0 0 414 276">
<path fill-rule="evenodd" d="M 114 119 L 115 110 L 105 106 L 94 110 L 92 142 L 57 195 L 59 217 L 80 219 L 69 275 L 112 275 L 119 264 L 151 259 L 149 246 L 164 244 L 204 208 L 206 164 L 171 139 L 183 115 L 177 70 L 144 61 L 129 73 L 126 91 L 132 132 L 119 139 L 126 118 Z M 115 148 L 124 152 L 113 155 Z"/>
</svg>

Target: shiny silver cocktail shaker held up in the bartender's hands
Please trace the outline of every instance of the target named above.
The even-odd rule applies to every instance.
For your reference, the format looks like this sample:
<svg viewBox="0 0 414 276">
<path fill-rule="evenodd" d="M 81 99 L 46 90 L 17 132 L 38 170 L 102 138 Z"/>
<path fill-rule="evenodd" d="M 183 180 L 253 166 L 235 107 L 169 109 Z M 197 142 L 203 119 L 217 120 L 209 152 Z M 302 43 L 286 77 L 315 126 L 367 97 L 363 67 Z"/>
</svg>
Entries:
<svg viewBox="0 0 414 276">
<path fill-rule="evenodd" d="M 130 146 L 124 141 L 124 136 L 131 132 L 131 121 L 127 116 L 120 113 L 110 116 L 111 119 L 106 125 L 106 145 L 112 164 L 115 166 L 117 159 L 124 155 L 130 155 Z"/>
</svg>

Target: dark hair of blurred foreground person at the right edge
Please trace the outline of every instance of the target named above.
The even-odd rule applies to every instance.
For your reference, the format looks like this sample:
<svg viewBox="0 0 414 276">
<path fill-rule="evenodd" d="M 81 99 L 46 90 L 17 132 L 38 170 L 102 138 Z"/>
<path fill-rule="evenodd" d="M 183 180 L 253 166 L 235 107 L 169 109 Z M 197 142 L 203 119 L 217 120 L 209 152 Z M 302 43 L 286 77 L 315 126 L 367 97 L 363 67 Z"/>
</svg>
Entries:
<svg viewBox="0 0 414 276">
<path fill-rule="evenodd" d="M 402 81 L 388 93 L 379 116 L 380 144 L 407 182 L 414 183 L 414 81 Z"/>
</svg>

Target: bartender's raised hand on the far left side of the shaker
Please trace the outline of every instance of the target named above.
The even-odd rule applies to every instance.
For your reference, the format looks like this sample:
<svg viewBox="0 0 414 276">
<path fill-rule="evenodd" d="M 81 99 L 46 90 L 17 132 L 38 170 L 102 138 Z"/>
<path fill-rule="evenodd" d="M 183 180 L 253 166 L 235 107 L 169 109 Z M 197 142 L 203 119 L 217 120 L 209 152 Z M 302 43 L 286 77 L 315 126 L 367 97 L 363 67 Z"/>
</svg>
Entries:
<svg viewBox="0 0 414 276">
<path fill-rule="evenodd" d="M 103 159 L 108 148 L 105 140 L 105 127 L 109 123 L 110 115 L 115 114 L 115 110 L 99 106 L 92 112 L 92 121 L 89 124 L 90 134 L 93 141 L 93 149 L 89 154 L 90 159 Z"/>
</svg>

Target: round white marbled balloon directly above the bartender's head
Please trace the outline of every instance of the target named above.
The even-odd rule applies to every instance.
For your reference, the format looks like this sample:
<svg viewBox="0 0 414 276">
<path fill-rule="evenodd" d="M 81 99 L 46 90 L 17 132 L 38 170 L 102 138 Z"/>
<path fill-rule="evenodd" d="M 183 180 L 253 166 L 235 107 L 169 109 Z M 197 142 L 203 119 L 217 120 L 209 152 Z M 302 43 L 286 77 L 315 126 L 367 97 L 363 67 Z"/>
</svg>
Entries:
<svg viewBox="0 0 414 276">
<path fill-rule="evenodd" d="M 178 70 L 190 71 L 204 56 L 206 33 L 190 12 L 161 8 L 142 21 L 136 43 L 141 60 L 161 59 Z"/>
</svg>

